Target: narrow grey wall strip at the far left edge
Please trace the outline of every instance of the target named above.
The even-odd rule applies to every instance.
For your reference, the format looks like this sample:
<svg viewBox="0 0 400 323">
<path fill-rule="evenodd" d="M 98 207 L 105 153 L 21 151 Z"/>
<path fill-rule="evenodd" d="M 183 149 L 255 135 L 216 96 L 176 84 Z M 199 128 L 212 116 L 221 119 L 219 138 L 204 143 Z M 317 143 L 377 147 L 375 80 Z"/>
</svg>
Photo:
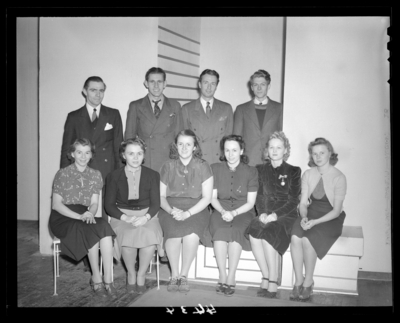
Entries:
<svg viewBox="0 0 400 323">
<path fill-rule="evenodd" d="M 17 19 L 17 219 L 34 221 L 39 205 L 38 23 L 38 18 Z"/>
</svg>

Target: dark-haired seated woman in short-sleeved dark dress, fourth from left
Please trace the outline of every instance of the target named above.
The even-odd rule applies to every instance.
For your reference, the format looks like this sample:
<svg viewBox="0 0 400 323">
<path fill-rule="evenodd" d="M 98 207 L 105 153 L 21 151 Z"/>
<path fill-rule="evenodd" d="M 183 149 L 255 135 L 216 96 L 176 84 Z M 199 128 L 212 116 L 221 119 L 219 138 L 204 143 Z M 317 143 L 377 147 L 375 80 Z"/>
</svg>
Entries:
<svg viewBox="0 0 400 323">
<path fill-rule="evenodd" d="M 241 136 L 225 136 L 220 146 L 222 163 L 211 165 L 214 174 L 211 205 L 214 211 L 211 215 L 210 232 L 219 270 L 216 292 L 232 296 L 235 292 L 236 268 L 242 249 L 251 250 L 250 241 L 244 236 L 244 232 L 256 216 L 254 203 L 258 174 L 255 167 L 247 165 L 249 159 L 243 154 L 244 141 Z"/>
</svg>

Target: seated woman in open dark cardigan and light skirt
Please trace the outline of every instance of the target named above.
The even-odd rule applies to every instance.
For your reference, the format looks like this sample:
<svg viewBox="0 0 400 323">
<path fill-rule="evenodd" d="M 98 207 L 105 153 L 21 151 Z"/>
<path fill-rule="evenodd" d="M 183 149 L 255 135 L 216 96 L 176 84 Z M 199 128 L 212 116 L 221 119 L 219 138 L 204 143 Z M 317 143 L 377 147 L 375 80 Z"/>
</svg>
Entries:
<svg viewBox="0 0 400 323">
<path fill-rule="evenodd" d="M 128 271 L 128 292 L 142 294 L 146 270 L 157 248 L 163 256 L 162 230 L 157 213 L 160 209 L 160 175 L 142 165 L 145 142 L 136 137 L 120 146 L 125 167 L 116 169 L 106 178 L 105 208 L 111 216 L 111 227 L 117 234 L 114 244 L 116 259 L 124 260 Z M 139 251 L 138 251 L 139 250 Z M 135 263 L 139 252 L 139 269 Z"/>
</svg>

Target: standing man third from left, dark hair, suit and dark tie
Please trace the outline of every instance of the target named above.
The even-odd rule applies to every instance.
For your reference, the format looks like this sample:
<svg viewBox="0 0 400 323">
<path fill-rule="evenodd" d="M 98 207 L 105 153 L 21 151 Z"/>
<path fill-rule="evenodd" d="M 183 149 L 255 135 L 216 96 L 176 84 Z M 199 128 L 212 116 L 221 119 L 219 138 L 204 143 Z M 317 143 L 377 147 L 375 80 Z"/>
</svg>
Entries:
<svg viewBox="0 0 400 323">
<path fill-rule="evenodd" d="M 233 129 L 232 106 L 214 98 L 219 74 L 206 69 L 199 77 L 200 98 L 182 107 L 185 129 L 191 129 L 199 138 L 203 159 L 210 165 L 220 162 L 219 142 L 231 135 Z"/>
</svg>

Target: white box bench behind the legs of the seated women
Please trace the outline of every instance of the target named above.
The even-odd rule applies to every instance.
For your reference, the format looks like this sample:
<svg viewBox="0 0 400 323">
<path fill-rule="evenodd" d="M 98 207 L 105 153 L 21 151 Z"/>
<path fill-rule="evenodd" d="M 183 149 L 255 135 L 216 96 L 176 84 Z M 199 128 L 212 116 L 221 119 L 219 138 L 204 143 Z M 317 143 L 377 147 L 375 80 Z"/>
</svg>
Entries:
<svg viewBox="0 0 400 323">
<path fill-rule="evenodd" d="M 317 260 L 314 271 L 314 290 L 320 292 L 358 295 L 359 260 L 363 255 L 364 238 L 361 227 L 344 226 L 341 237 L 322 261 Z M 238 285 L 259 286 L 262 274 L 251 251 L 243 251 L 236 272 Z M 216 282 L 218 268 L 212 248 L 199 246 L 188 278 Z M 293 263 L 290 247 L 283 255 L 280 289 L 292 289 Z"/>
</svg>

